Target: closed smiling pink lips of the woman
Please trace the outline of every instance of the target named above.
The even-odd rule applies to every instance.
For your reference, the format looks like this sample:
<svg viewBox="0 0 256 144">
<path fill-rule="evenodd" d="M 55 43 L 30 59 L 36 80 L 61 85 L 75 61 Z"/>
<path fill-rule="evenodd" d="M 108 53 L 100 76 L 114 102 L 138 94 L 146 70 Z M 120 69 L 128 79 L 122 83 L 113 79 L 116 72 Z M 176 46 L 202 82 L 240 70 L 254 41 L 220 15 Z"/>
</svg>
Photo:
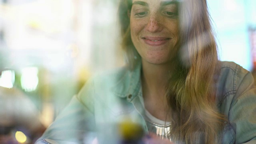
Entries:
<svg viewBox="0 0 256 144">
<path fill-rule="evenodd" d="M 144 40 L 144 42 L 150 46 L 161 46 L 166 44 L 168 40 L 170 40 L 170 38 L 146 36 L 146 37 L 143 37 L 142 40 Z"/>
</svg>

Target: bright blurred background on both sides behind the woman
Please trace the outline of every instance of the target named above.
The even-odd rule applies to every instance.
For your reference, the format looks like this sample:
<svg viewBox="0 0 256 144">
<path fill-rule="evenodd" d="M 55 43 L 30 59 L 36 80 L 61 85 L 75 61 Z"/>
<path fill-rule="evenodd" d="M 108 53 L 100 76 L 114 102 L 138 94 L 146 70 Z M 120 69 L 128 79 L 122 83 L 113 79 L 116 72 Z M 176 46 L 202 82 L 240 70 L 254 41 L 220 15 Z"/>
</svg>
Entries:
<svg viewBox="0 0 256 144">
<path fill-rule="evenodd" d="M 0 0 L 0 144 L 30 144 L 96 72 L 124 65 L 118 0 Z M 221 60 L 256 70 L 256 0 L 208 0 Z"/>
</svg>

